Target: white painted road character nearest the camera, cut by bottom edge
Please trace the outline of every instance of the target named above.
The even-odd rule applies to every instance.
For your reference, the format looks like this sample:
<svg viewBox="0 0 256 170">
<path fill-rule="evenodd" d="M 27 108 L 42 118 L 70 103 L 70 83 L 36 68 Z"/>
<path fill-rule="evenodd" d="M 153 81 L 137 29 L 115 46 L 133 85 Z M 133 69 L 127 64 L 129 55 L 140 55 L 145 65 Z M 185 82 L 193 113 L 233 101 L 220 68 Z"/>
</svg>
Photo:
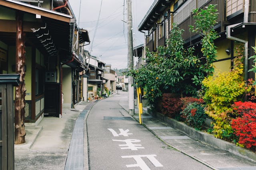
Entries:
<svg viewBox="0 0 256 170">
<path fill-rule="evenodd" d="M 136 164 L 126 165 L 127 168 L 140 167 L 142 170 L 150 170 L 147 164 L 143 161 L 142 157 L 148 158 L 155 167 L 162 167 L 163 165 L 160 162 L 158 162 L 158 160 L 156 160 L 155 156 L 156 156 L 155 154 L 145 154 L 145 155 L 122 156 L 122 158 L 134 158 L 134 160 L 136 161 Z"/>
</svg>

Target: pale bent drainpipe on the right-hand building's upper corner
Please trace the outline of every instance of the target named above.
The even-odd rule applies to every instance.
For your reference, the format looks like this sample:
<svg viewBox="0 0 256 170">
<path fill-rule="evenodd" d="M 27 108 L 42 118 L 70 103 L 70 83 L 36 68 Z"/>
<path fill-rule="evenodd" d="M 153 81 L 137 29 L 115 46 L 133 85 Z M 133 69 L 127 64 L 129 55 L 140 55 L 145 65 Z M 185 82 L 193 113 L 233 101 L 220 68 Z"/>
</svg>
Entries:
<svg viewBox="0 0 256 170">
<path fill-rule="evenodd" d="M 249 0 L 244 0 L 244 23 L 248 22 L 248 13 L 249 13 Z M 227 29 L 226 29 L 226 34 L 227 34 L 227 39 L 231 39 L 231 40 L 235 40 L 235 41 L 239 41 L 244 43 L 244 70 L 245 70 L 245 74 L 244 74 L 244 80 L 247 81 L 248 79 L 248 41 L 244 40 L 244 39 L 240 39 L 237 37 L 233 37 L 230 35 L 230 30 L 235 27 L 236 25 L 239 25 L 241 23 L 236 23 L 233 25 L 228 25 Z"/>
</svg>

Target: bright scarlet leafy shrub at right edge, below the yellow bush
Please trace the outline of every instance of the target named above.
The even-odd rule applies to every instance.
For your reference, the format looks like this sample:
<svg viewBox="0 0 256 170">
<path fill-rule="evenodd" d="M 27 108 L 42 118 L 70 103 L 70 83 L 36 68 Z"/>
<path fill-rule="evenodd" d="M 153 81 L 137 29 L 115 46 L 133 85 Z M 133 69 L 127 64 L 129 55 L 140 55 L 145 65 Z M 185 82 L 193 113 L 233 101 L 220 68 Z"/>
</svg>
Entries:
<svg viewBox="0 0 256 170">
<path fill-rule="evenodd" d="M 240 146 L 256 149 L 256 103 L 235 102 L 234 111 L 239 115 L 231 121 L 234 134 L 238 136 Z"/>
</svg>

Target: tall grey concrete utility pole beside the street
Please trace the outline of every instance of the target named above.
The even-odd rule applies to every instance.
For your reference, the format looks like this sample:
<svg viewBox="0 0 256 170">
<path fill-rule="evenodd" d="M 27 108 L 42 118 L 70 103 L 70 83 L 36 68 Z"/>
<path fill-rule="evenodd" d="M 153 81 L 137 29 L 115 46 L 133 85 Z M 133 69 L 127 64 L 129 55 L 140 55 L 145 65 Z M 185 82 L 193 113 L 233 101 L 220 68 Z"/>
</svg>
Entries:
<svg viewBox="0 0 256 170">
<path fill-rule="evenodd" d="M 127 0 L 127 27 L 128 27 L 128 70 L 133 69 L 133 45 L 132 45 L 132 1 Z M 128 107 L 129 114 L 134 115 L 134 86 L 133 77 L 128 76 Z"/>
</svg>

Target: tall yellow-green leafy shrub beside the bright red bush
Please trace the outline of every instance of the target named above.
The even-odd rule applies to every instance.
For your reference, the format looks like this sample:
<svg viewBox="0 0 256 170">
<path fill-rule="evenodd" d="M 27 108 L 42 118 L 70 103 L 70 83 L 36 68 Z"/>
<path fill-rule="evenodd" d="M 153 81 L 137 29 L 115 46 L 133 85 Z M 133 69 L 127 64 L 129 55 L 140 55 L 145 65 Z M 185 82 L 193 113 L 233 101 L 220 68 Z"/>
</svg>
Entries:
<svg viewBox="0 0 256 170">
<path fill-rule="evenodd" d="M 230 72 L 217 73 L 215 76 L 208 76 L 202 82 L 206 102 L 205 113 L 214 119 L 213 133 L 216 138 L 223 138 L 225 135 L 233 133 L 230 126 L 228 112 L 232 111 L 231 105 L 242 100 L 244 92 L 249 92 L 251 86 L 246 86 L 242 78 L 242 64 Z"/>
</svg>

